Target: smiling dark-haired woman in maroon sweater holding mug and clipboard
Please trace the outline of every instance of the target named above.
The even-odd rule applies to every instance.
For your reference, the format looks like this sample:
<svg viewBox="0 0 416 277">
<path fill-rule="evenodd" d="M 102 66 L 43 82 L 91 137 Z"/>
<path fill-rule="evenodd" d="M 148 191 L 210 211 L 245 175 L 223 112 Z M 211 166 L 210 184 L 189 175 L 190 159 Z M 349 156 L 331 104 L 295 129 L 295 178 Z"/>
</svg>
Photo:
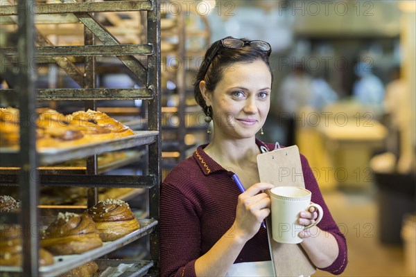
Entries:
<svg viewBox="0 0 416 277">
<path fill-rule="evenodd" d="M 259 182 L 255 139 L 270 108 L 272 71 L 270 44 L 226 37 L 208 49 L 195 82 L 195 97 L 213 120 L 208 145 L 178 164 L 166 177 L 160 200 L 162 276 L 232 276 L 248 266 L 248 276 L 270 276 L 266 229 L 270 198 Z M 210 132 L 210 129 L 209 129 Z M 311 168 L 301 157 L 305 186 L 324 218 L 310 233 L 302 232 L 301 246 L 316 267 L 340 274 L 347 264 L 345 237 L 324 204 Z M 241 193 L 232 176 L 241 179 Z M 300 223 L 317 218 L 313 209 L 302 212 Z M 319 228 L 319 230 L 318 230 Z M 261 273 L 263 272 L 263 273 Z"/>
</svg>

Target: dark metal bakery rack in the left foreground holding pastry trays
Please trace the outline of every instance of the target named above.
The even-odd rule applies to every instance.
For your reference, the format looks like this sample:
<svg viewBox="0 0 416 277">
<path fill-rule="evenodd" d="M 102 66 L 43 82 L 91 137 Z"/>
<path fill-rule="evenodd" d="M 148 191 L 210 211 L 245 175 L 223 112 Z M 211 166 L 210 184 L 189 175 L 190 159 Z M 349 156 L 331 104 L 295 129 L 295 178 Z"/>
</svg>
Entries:
<svg viewBox="0 0 416 277">
<path fill-rule="evenodd" d="M 21 276 L 57 276 L 87 260 L 94 260 L 141 238 L 150 236 L 150 260 L 134 261 L 135 265 L 122 276 L 159 275 L 159 185 L 161 182 L 160 139 L 160 15 L 159 0 L 132 1 L 81 1 L 61 0 L 1 0 L 0 24 L 17 25 L 15 47 L 1 47 L 0 75 L 12 89 L 0 89 L 0 99 L 19 107 L 19 150 L 0 148 L 0 166 L 19 168 L 0 175 L 0 186 L 17 185 L 20 191 L 21 212 L 1 213 L 0 223 L 21 224 L 23 230 L 41 226 L 39 206 L 40 186 L 88 187 L 88 206 L 97 202 L 97 187 L 145 188 L 149 195 L 149 218 L 140 219 L 141 229 L 103 247 L 79 256 L 60 256 L 55 265 L 38 266 L 39 235 L 23 235 L 23 265 L 0 267 L 5 271 L 18 271 Z M 142 21 L 146 43 L 121 44 L 97 19 L 106 12 L 135 11 L 144 15 Z M 83 24 L 84 44 L 80 46 L 54 46 L 35 26 L 38 21 Z M 115 20 L 115 19 L 114 19 Z M 140 22 L 138 22 L 140 24 Z M 101 44 L 96 43 L 98 39 Z M 35 47 L 37 44 L 37 47 Z M 117 57 L 137 78 L 140 86 L 132 89 L 96 87 L 96 57 Z M 140 58 L 138 58 L 140 57 Z M 36 89 L 36 62 L 53 60 L 79 85 L 79 89 Z M 77 66 L 82 61 L 84 70 Z M 58 150 L 36 149 L 35 124 L 31 118 L 36 114 L 38 100 L 85 100 L 85 109 L 96 109 L 97 100 L 143 100 L 146 103 L 146 130 L 133 136 L 102 143 L 80 145 Z M 144 175 L 98 175 L 97 154 L 112 150 L 135 148 L 146 145 L 148 168 Z M 0 145 L 1 146 L 1 145 Z M 43 175 L 40 166 L 87 158 L 87 174 L 69 174 L 57 170 L 55 174 Z M 13 170 L 12 170 L 13 171 Z M 97 260 L 99 271 L 116 267 L 124 260 Z M 131 262 L 131 261 L 130 261 Z M 9 274 L 9 273 L 8 273 Z"/>
</svg>

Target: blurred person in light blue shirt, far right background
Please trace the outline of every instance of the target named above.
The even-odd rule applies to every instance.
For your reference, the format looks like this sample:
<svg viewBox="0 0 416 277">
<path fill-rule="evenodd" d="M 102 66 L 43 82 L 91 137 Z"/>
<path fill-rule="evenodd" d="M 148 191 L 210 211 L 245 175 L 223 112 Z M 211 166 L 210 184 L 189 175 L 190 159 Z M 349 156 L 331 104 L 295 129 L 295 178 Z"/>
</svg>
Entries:
<svg viewBox="0 0 416 277">
<path fill-rule="evenodd" d="M 375 116 L 380 116 L 383 113 L 383 82 L 374 75 L 373 66 L 369 62 L 358 62 L 355 73 L 358 80 L 354 82 L 352 95 L 363 107 L 372 109 Z"/>
</svg>

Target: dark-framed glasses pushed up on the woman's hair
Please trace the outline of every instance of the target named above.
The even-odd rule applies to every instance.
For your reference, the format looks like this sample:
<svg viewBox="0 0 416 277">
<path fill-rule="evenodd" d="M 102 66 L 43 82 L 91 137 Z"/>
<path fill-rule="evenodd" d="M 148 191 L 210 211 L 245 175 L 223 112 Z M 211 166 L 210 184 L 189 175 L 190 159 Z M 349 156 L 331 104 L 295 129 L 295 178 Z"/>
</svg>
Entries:
<svg viewBox="0 0 416 277">
<path fill-rule="evenodd" d="M 270 46 L 268 42 L 263 42 L 263 40 L 243 41 L 241 39 L 234 39 L 234 38 L 221 39 L 216 49 L 212 51 L 211 55 L 209 55 L 209 57 L 207 58 L 204 75 L 207 75 L 209 66 L 211 65 L 212 60 L 214 60 L 214 57 L 216 57 L 221 47 L 229 48 L 229 49 L 240 49 L 246 45 L 250 45 L 252 46 L 252 48 L 258 51 L 266 52 L 268 56 L 270 56 L 270 53 L 272 52 L 272 46 Z"/>
</svg>

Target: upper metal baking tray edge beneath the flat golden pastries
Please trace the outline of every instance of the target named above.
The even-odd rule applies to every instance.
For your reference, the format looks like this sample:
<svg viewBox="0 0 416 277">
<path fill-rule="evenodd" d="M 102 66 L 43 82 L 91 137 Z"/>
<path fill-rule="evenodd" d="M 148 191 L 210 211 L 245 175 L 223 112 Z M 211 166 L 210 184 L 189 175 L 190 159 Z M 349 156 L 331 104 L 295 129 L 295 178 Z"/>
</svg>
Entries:
<svg viewBox="0 0 416 277">
<path fill-rule="evenodd" d="M 71 159 L 81 159 L 115 150 L 132 148 L 138 145 L 147 145 L 153 143 L 157 131 L 136 131 L 132 136 L 123 136 L 122 138 L 111 139 L 108 141 L 99 141 L 94 143 L 85 143 L 68 148 L 40 148 L 37 151 L 39 162 L 41 165 L 61 163 Z M 18 153 L 15 149 L 1 148 L 3 153 Z"/>
</svg>

